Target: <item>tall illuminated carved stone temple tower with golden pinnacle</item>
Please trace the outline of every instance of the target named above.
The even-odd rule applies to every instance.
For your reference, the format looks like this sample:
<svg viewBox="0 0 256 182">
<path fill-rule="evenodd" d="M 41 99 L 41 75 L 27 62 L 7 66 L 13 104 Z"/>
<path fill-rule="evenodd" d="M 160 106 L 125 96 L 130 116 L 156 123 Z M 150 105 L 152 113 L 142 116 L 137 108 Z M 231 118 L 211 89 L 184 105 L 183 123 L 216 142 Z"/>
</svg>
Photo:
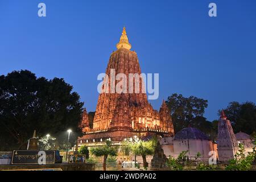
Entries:
<svg viewBox="0 0 256 182">
<path fill-rule="evenodd" d="M 110 56 L 106 75 L 110 76 L 113 69 L 115 75 L 124 73 L 127 78 L 129 78 L 129 73 L 141 75 L 137 53 L 130 49 L 131 44 L 127 38 L 126 29 L 123 28 L 117 50 Z M 80 125 L 84 136 L 79 138 L 80 145 L 93 146 L 106 139 L 120 142 L 135 135 L 137 137 L 148 135 L 171 137 L 174 135 L 174 126 L 166 103 L 163 102 L 160 111 L 154 110 L 147 101 L 147 94 L 142 92 L 144 89 L 142 77 L 139 77 L 139 92 L 135 92 L 134 80 L 133 93 L 100 94 L 92 128 L 89 127 L 88 114 L 86 110 L 84 111 Z M 115 81 L 114 84 L 117 85 L 118 82 Z M 127 81 L 127 88 L 129 88 L 128 84 L 129 81 Z M 109 90 L 111 90 L 110 85 L 108 83 Z"/>
</svg>

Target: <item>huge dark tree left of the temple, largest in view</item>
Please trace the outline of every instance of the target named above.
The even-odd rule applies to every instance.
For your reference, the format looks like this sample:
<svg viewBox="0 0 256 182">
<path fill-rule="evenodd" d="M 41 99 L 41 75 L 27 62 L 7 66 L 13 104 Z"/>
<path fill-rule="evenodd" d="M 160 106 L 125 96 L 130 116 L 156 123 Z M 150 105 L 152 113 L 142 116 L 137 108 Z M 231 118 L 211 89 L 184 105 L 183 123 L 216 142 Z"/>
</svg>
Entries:
<svg viewBox="0 0 256 182">
<path fill-rule="evenodd" d="M 0 76 L 0 139 L 8 150 L 26 148 L 34 130 L 39 137 L 69 128 L 81 135 L 83 103 L 72 89 L 63 78 L 37 78 L 26 70 Z"/>
</svg>

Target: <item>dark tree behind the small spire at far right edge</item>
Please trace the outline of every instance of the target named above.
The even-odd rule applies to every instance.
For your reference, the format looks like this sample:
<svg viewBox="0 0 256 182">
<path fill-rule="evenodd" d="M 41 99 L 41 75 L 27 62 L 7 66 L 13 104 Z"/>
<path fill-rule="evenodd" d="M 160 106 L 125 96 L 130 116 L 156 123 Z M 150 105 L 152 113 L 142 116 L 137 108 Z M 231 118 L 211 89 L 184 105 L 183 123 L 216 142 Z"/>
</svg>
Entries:
<svg viewBox="0 0 256 182">
<path fill-rule="evenodd" d="M 253 134 L 256 131 L 256 106 L 253 102 L 230 102 L 228 107 L 223 109 L 226 116 L 232 122 L 235 133 L 240 131 Z M 221 110 L 218 111 L 220 115 Z"/>
</svg>

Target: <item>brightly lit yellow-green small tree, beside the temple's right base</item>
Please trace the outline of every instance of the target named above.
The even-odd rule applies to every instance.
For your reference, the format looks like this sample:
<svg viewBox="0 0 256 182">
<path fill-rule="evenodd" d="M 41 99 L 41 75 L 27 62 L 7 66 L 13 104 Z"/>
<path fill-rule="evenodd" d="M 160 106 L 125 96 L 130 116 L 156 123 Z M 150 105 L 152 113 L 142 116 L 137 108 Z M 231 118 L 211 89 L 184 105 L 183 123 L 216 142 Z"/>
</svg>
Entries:
<svg viewBox="0 0 256 182">
<path fill-rule="evenodd" d="M 147 169 L 147 155 L 153 155 L 155 147 L 157 144 L 156 138 L 150 140 L 140 140 L 140 139 L 125 139 L 122 142 L 121 151 L 123 154 L 129 155 L 133 153 L 134 155 L 141 155 L 143 159 L 143 167 Z"/>
</svg>

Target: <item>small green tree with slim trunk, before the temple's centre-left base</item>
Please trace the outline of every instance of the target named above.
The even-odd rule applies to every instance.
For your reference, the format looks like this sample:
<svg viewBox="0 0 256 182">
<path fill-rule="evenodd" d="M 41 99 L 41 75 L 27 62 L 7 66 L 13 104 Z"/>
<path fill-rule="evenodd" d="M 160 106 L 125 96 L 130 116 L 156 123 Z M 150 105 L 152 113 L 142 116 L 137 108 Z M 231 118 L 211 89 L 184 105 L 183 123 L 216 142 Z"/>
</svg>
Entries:
<svg viewBox="0 0 256 182">
<path fill-rule="evenodd" d="M 102 147 L 93 147 L 90 152 L 97 156 L 103 156 L 103 171 L 106 171 L 106 160 L 108 156 L 117 156 L 117 147 L 112 146 L 112 142 L 110 140 L 106 140 L 106 144 Z"/>
</svg>

